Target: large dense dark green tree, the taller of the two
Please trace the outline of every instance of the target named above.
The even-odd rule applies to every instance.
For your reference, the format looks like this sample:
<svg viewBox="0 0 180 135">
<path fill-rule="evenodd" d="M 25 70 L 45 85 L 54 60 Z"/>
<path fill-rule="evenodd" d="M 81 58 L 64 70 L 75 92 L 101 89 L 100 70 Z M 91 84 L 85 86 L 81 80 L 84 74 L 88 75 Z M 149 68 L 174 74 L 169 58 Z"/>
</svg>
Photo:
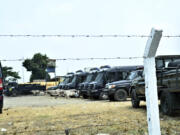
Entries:
<svg viewBox="0 0 180 135">
<path fill-rule="evenodd" d="M 26 59 L 23 62 L 23 66 L 27 69 L 27 71 L 32 73 L 30 77 L 31 82 L 36 79 L 49 80 L 50 76 L 46 73 L 48 59 L 49 58 L 46 55 L 36 53 L 32 59 Z"/>
</svg>

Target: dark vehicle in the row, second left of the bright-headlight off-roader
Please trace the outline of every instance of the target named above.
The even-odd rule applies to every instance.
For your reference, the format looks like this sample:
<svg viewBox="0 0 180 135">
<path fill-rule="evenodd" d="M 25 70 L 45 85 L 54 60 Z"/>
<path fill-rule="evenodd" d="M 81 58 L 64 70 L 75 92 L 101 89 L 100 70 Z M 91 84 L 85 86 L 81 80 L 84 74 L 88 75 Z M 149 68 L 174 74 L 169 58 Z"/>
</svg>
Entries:
<svg viewBox="0 0 180 135">
<path fill-rule="evenodd" d="M 98 71 L 99 71 L 98 68 L 91 68 L 90 71 L 87 73 L 85 81 L 78 85 L 78 90 L 80 92 L 80 95 L 83 96 L 83 98 L 88 98 L 88 94 L 87 94 L 88 84 L 95 80 Z"/>
</svg>

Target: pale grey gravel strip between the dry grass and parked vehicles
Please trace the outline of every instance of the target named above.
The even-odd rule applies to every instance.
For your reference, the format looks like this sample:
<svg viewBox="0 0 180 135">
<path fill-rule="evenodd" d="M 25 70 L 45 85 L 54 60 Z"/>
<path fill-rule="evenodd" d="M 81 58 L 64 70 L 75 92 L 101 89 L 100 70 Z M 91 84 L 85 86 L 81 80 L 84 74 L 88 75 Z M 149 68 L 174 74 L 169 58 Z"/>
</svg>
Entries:
<svg viewBox="0 0 180 135">
<path fill-rule="evenodd" d="M 81 104 L 102 101 L 90 101 L 80 98 L 55 98 L 50 96 L 19 96 L 19 97 L 4 97 L 4 108 L 15 107 L 48 107 L 60 106 L 65 104 Z M 104 101 L 106 102 L 106 101 Z"/>
</svg>

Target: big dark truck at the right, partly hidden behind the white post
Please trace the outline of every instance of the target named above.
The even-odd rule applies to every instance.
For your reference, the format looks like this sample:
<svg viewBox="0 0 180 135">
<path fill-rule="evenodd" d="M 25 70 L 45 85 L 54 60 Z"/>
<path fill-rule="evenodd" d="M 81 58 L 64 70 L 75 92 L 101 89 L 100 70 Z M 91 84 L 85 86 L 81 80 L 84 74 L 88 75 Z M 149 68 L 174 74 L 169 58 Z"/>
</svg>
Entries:
<svg viewBox="0 0 180 135">
<path fill-rule="evenodd" d="M 165 115 L 173 115 L 180 109 L 180 56 L 158 56 L 156 75 L 160 110 Z M 132 107 L 138 108 L 145 101 L 144 74 L 131 86 Z"/>
</svg>

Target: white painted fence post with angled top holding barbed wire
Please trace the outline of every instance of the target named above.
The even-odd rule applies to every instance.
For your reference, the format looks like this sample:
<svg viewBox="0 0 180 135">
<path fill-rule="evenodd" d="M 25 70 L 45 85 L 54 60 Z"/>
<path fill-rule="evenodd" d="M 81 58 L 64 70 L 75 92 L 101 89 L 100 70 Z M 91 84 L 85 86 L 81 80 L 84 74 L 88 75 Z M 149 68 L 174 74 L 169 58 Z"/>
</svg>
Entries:
<svg viewBox="0 0 180 135">
<path fill-rule="evenodd" d="M 157 80 L 155 55 L 162 37 L 162 30 L 151 30 L 144 51 L 144 72 L 146 89 L 146 107 L 149 135 L 160 135 L 159 107 L 157 96 Z"/>
</svg>

